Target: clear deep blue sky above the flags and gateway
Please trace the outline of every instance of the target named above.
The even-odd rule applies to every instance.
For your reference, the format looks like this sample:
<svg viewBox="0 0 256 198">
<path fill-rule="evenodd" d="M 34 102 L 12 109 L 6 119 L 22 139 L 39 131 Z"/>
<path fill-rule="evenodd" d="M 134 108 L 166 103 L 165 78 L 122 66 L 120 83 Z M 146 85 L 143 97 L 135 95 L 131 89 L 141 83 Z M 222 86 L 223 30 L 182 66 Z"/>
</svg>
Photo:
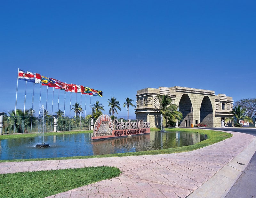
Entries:
<svg viewBox="0 0 256 198">
<path fill-rule="evenodd" d="M 184 86 L 224 93 L 234 101 L 256 98 L 256 1 L 109 0 L 2 1 L 0 7 L 0 112 L 15 108 L 17 72 L 102 90 L 108 99 L 136 104 L 137 90 Z M 25 81 L 17 108 L 24 108 Z M 45 88 L 45 86 L 44 86 Z M 51 90 L 51 91 L 50 91 Z M 34 109 L 39 112 L 40 86 Z M 43 96 L 44 95 L 44 96 Z M 26 108 L 32 107 L 28 83 Z M 41 105 L 46 105 L 46 89 Z M 72 95 L 72 105 L 80 95 Z M 64 110 L 64 92 L 60 109 Z M 90 97 L 87 96 L 89 114 Z M 70 94 L 65 113 L 69 114 Z M 58 91 L 54 91 L 53 112 Z M 82 105 L 85 108 L 83 95 Z M 52 88 L 48 107 L 52 112 Z M 73 113 L 72 113 L 73 114 Z M 133 108 L 130 117 L 135 118 Z"/>
</svg>

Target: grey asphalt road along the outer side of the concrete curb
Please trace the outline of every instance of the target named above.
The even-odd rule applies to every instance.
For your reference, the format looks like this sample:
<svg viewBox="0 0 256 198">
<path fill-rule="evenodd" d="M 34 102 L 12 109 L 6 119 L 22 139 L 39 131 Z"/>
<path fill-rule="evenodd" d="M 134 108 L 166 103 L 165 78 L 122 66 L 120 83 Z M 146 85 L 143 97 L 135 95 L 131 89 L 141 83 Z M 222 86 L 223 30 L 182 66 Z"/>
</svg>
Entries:
<svg viewBox="0 0 256 198">
<path fill-rule="evenodd" d="M 256 136 L 256 128 L 210 128 L 215 130 L 236 131 Z M 256 197 L 256 153 L 240 175 L 234 186 L 229 190 L 225 198 L 249 198 Z"/>
</svg>

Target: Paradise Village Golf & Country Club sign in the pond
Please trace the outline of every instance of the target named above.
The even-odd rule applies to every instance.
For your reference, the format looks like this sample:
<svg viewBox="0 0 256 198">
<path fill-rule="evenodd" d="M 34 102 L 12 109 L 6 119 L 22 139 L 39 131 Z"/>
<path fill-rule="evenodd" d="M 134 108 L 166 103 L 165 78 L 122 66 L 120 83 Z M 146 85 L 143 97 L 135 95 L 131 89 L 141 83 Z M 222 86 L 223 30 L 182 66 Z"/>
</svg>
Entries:
<svg viewBox="0 0 256 198">
<path fill-rule="evenodd" d="M 103 114 L 94 124 L 92 140 L 143 135 L 147 133 L 150 133 L 149 122 L 144 122 L 143 120 L 119 122 L 116 119 L 112 121 L 109 115 Z"/>
</svg>

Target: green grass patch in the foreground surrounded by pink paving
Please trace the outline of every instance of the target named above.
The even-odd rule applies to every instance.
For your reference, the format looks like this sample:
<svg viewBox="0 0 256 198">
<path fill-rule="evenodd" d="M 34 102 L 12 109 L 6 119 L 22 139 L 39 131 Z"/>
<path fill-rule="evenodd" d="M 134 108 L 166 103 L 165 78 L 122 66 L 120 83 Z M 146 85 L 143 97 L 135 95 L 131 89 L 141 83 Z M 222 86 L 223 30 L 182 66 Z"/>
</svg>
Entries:
<svg viewBox="0 0 256 198">
<path fill-rule="evenodd" d="M 0 174 L 0 197 L 43 198 L 119 174 L 109 166 Z"/>
</svg>

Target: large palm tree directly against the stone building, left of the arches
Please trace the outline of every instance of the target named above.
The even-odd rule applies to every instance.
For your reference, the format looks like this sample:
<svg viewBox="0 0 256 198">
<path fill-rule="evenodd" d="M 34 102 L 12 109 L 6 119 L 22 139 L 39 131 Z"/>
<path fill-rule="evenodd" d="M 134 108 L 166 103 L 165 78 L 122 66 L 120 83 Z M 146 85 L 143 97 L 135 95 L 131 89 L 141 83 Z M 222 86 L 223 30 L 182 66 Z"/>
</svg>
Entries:
<svg viewBox="0 0 256 198">
<path fill-rule="evenodd" d="M 167 126 L 167 120 L 176 122 L 176 119 L 182 119 L 182 113 L 178 111 L 178 106 L 172 103 L 172 99 L 168 94 L 158 95 L 159 111 L 163 115 L 163 126 Z"/>
</svg>

